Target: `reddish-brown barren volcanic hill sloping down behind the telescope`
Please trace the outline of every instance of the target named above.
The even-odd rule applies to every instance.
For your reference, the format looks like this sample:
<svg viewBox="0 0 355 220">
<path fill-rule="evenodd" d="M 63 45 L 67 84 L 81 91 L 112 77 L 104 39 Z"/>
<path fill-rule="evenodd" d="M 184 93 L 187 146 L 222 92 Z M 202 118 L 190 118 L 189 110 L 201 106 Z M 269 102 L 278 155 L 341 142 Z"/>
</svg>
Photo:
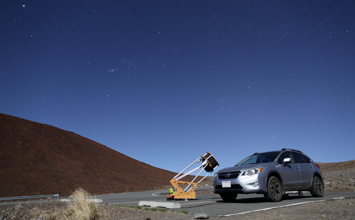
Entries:
<svg viewBox="0 0 355 220">
<path fill-rule="evenodd" d="M 147 191 L 176 173 L 51 125 L 0 113 L 0 198 Z"/>
</svg>

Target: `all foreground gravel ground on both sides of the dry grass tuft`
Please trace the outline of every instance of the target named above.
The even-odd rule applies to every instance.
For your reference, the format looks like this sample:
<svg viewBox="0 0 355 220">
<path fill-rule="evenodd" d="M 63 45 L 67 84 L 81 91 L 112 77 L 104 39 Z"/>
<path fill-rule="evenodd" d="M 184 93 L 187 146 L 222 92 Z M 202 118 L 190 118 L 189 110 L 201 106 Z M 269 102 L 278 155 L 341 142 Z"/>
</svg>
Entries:
<svg viewBox="0 0 355 220">
<path fill-rule="evenodd" d="M 17 207 L 0 208 L 0 220 L 23 219 L 23 220 L 46 220 L 50 214 L 60 209 L 65 209 L 66 203 L 41 202 L 24 203 Z M 176 212 L 152 212 L 142 209 L 121 208 L 107 205 L 99 206 L 100 220 L 159 220 L 159 219 L 195 219 L 192 214 Z M 265 211 L 257 211 L 227 217 L 210 216 L 209 219 L 218 220 L 299 220 L 299 219 L 322 219 L 322 220 L 355 220 L 355 200 L 339 199 L 324 202 L 295 205 Z"/>
</svg>

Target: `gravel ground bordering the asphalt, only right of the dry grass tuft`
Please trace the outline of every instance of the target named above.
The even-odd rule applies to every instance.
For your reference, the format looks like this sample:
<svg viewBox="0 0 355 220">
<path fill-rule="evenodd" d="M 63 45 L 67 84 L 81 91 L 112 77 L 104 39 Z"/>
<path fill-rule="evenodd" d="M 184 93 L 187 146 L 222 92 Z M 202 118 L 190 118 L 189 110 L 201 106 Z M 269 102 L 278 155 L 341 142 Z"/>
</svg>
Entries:
<svg viewBox="0 0 355 220">
<path fill-rule="evenodd" d="M 102 220 L 114 219 L 195 219 L 191 214 L 177 213 L 153 213 L 144 210 L 135 210 L 118 207 L 104 207 L 105 216 Z M 294 207 L 284 207 L 271 209 L 266 211 L 257 211 L 246 214 L 239 214 L 227 217 L 210 216 L 209 219 L 218 220 L 300 220 L 300 219 L 322 219 L 322 220 L 339 220 L 339 219 L 355 219 L 355 200 L 341 199 L 325 202 L 315 202 L 311 204 L 296 205 Z"/>
</svg>

